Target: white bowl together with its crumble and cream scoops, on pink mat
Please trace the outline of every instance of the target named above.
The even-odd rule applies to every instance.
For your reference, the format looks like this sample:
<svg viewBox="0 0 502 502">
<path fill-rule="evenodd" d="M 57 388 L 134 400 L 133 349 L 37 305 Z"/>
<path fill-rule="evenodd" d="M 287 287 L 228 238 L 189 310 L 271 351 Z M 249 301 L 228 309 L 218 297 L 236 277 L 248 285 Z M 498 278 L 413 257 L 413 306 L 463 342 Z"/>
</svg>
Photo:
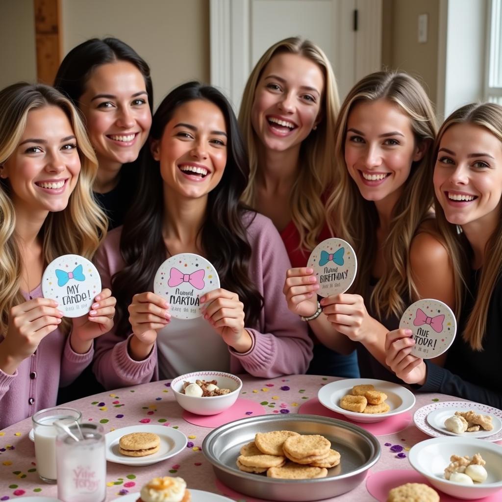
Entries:
<svg viewBox="0 0 502 502">
<path fill-rule="evenodd" d="M 197 381 L 205 385 L 198 385 Z M 225 411 L 235 403 L 241 388 L 238 376 L 222 371 L 194 371 L 171 382 L 178 404 L 196 415 L 216 415 Z"/>
</svg>

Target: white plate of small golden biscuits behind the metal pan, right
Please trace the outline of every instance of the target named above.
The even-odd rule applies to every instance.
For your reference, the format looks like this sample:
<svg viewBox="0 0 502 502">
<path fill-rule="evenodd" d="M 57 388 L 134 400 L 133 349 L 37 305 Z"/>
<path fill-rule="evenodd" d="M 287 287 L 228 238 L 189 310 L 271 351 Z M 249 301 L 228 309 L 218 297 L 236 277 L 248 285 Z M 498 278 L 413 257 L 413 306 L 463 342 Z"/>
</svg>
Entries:
<svg viewBox="0 0 502 502">
<path fill-rule="evenodd" d="M 415 396 L 405 387 L 375 379 L 344 379 L 317 393 L 319 402 L 354 422 L 380 422 L 410 410 Z"/>
</svg>

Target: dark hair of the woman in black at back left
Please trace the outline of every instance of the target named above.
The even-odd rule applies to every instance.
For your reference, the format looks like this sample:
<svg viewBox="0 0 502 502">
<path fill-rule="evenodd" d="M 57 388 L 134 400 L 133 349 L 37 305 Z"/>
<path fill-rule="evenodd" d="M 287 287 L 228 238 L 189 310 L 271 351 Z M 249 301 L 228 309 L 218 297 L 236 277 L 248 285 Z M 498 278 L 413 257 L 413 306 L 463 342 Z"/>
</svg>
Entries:
<svg viewBox="0 0 502 502">
<path fill-rule="evenodd" d="M 91 38 L 74 47 L 59 65 L 54 87 L 68 96 L 78 108 L 92 71 L 115 61 L 128 61 L 138 68 L 145 79 L 148 104 L 153 112 L 154 93 L 150 67 L 132 47 L 117 38 Z"/>
</svg>

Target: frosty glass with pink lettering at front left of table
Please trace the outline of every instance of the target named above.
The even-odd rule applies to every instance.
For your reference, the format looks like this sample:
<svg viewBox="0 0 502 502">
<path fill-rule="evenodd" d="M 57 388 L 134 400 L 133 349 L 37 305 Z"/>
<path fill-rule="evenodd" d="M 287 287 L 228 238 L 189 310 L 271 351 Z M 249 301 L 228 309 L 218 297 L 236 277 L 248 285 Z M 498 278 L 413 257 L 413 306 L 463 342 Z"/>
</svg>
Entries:
<svg viewBox="0 0 502 502">
<path fill-rule="evenodd" d="M 106 498 L 106 450 L 103 427 L 69 426 L 79 441 L 60 431 L 56 439 L 58 499 L 63 502 L 103 502 Z"/>
</svg>

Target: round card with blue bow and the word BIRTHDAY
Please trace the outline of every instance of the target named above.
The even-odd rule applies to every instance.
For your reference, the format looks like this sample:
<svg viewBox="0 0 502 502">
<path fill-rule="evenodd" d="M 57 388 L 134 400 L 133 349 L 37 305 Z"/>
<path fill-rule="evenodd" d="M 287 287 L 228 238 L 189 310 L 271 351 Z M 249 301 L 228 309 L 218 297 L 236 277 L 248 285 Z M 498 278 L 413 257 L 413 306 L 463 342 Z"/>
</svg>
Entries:
<svg viewBox="0 0 502 502">
<path fill-rule="evenodd" d="M 345 293 L 354 282 L 357 258 L 347 241 L 333 237 L 317 244 L 307 267 L 314 269 L 320 286 L 318 295 L 337 295 Z"/>
</svg>

